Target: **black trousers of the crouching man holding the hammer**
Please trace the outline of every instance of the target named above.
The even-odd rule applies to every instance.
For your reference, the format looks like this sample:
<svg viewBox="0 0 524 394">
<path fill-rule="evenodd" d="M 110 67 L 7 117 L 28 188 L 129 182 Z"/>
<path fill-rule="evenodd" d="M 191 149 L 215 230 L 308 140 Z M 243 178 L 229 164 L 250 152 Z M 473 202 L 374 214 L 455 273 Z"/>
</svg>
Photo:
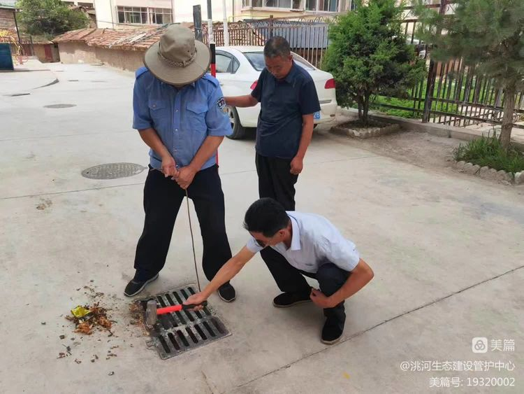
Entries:
<svg viewBox="0 0 524 394">
<path fill-rule="evenodd" d="M 296 269 L 284 258 L 283 255 L 273 248 L 264 248 L 263 251 L 268 253 L 268 259 L 264 260 L 265 264 L 277 282 L 277 286 L 284 293 L 310 293 L 310 285 L 307 284 L 304 276 L 319 281 L 320 291 L 327 296 L 333 295 L 346 283 L 351 272 L 344 271 L 329 262 L 319 267 L 319 270 L 312 274 L 311 272 L 300 271 Z M 344 330 L 346 321 L 346 312 L 344 311 L 344 302 L 340 302 L 333 308 L 324 309 L 326 318 L 335 318 L 341 330 Z"/>
</svg>

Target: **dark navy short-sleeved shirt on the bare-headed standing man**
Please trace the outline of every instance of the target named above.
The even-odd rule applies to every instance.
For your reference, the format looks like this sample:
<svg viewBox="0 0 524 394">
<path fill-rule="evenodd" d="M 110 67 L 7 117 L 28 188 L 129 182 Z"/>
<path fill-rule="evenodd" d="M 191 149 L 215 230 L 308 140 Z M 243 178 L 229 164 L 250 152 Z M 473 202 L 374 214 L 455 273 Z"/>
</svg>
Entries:
<svg viewBox="0 0 524 394">
<path fill-rule="evenodd" d="M 264 68 L 251 94 L 261 103 L 256 152 L 265 157 L 293 159 L 302 136 L 302 115 L 320 111 L 310 73 L 293 62 L 286 78 L 277 80 Z"/>
</svg>

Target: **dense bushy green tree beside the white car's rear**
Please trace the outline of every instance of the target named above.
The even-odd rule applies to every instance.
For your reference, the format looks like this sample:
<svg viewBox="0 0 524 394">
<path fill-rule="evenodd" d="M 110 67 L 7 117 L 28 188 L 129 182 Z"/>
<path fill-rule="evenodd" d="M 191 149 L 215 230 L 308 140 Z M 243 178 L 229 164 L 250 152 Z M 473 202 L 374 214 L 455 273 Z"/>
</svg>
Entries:
<svg viewBox="0 0 524 394">
<path fill-rule="evenodd" d="M 425 64 L 406 42 L 401 22 L 395 0 L 370 0 L 330 27 L 323 69 L 335 77 L 338 103 L 358 104 L 364 124 L 372 95 L 402 96 L 425 76 Z"/>
</svg>

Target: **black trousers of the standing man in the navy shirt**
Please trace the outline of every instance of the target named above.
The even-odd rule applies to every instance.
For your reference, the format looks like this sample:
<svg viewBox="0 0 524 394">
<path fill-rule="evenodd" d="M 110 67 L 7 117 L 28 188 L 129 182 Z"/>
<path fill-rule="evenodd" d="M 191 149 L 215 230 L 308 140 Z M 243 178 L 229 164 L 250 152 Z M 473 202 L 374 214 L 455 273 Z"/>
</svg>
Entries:
<svg viewBox="0 0 524 394">
<path fill-rule="evenodd" d="M 284 206 L 286 211 L 295 211 L 295 183 L 291 160 L 277 157 L 255 156 L 256 174 L 259 176 L 259 197 L 271 197 Z"/>
</svg>

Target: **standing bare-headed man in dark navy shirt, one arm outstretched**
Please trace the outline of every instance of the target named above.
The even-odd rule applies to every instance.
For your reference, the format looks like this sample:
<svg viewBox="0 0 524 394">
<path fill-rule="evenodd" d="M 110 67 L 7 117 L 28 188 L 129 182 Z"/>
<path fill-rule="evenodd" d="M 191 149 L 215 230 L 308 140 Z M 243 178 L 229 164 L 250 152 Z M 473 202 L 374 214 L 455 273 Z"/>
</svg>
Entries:
<svg viewBox="0 0 524 394">
<path fill-rule="evenodd" d="M 264 47 L 265 69 L 251 94 L 224 97 L 230 106 L 261 103 L 256 128 L 256 172 L 260 197 L 295 210 L 295 183 L 313 134 L 319 97 L 310 74 L 293 62 L 289 43 L 273 37 Z"/>
</svg>

